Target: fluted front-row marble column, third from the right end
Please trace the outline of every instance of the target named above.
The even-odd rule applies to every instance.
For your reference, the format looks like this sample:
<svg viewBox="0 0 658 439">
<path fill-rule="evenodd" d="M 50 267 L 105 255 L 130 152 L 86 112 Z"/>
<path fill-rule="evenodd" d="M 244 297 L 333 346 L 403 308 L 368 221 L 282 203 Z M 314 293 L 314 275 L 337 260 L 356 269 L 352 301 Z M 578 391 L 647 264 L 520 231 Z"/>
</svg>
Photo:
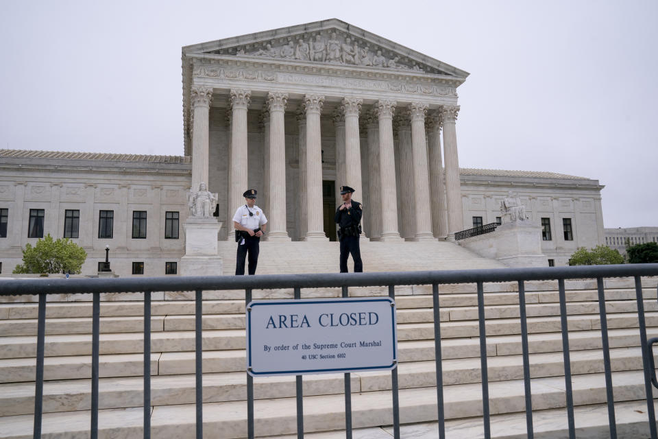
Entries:
<svg viewBox="0 0 658 439">
<path fill-rule="evenodd" d="M 395 104 L 395 101 L 389 99 L 381 99 L 375 104 L 379 119 L 382 241 L 400 241 L 397 189 L 395 189 L 395 163 L 393 161 L 393 112 L 395 112 Z"/>
</svg>

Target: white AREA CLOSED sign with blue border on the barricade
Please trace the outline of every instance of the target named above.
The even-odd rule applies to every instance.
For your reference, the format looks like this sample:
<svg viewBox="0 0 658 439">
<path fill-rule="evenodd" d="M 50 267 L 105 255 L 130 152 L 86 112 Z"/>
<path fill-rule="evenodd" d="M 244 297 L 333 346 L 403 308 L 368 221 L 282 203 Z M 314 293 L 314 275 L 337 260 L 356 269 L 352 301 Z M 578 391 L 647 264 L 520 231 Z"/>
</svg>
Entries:
<svg viewBox="0 0 658 439">
<path fill-rule="evenodd" d="M 254 376 L 392 369 L 391 298 L 256 300 L 247 305 L 247 372 Z"/>
</svg>

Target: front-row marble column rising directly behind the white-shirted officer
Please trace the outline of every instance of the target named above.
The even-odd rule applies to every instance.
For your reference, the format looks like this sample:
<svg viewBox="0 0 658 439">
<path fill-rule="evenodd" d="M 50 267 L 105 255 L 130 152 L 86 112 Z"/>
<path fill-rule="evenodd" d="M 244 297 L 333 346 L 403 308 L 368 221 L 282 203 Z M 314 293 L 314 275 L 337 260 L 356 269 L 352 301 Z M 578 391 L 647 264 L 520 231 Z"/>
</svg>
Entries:
<svg viewBox="0 0 658 439">
<path fill-rule="evenodd" d="M 235 210 L 243 204 L 242 194 L 247 189 L 247 108 L 252 93 L 248 90 L 231 90 L 231 161 L 228 167 L 229 193 L 228 216 L 233 217 Z M 267 214 L 266 214 L 267 215 Z M 228 239 L 233 237 L 233 222 L 228 221 Z"/>
</svg>

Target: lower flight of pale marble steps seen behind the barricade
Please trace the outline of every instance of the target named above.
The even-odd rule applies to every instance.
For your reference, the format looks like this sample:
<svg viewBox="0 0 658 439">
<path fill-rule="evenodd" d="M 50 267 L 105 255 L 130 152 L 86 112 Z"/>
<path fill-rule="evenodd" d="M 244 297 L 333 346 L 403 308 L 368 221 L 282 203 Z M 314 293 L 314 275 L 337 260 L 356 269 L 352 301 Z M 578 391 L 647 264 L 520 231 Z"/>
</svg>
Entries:
<svg viewBox="0 0 658 439">
<path fill-rule="evenodd" d="M 368 243 L 376 245 L 378 243 Z M 657 279 L 644 279 L 648 337 L 658 336 Z M 632 279 L 605 281 L 611 367 L 620 437 L 647 437 L 642 352 Z M 607 433 L 605 379 L 595 281 L 567 281 L 572 385 L 578 437 Z M 492 434 L 525 437 L 524 385 L 515 283 L 485 284 Z M 354 294 L 378 290 L 354 289 Z M 402 437 L 436 438 L 432 297 L 404 289 L 398 305 Z M 255 292 L 256 293 L 256 292 Z M 291 292 L 260 292 L 265 298 Z M 302 292 L 304 295 L 306 292 Z M 330 294 L 339 292 L 330 290 Z M 352 293 L 352 291 L 351 291 Z M 204 431 L 246 436 L 244 302 L 226 292 L 204 300 Z M 313 292 L 308 292 L 313 295 Z M 443 394 L 448 438 L 482 434 L 480 346 L 475 285 L 439 285 Z M 104 294 L 99 358 L 99 437 L 141 437 L 143 304 L 139 294 Z M 32 437 L 35 298 L 0 303 L 0 438 Z M 90 418 L 91 304 L 87 295 L 53 297 L 45 337 L 44 438 L 87 437 Z M 536 437 L 564 437 L 563 354 L 557 282 L 526 283 L 528 342 Z M 194 302 L 189 294 L 154 293 L 151 318 L 151 434 L 193 438 Z M 390 438 L 389 372 L 352 374 L 355 438 Z M 294 377 L 254 379 L 256 436 L 293 438 Z M 344 437 L 343 375 L 304 377 L 308 438 Z M 638 413 L 642 412 L 642 413 Z M 644 418 L 642 417 L 644 416 Z M 642 436 L 644 435 L 644 436 Z"/>
</svg>

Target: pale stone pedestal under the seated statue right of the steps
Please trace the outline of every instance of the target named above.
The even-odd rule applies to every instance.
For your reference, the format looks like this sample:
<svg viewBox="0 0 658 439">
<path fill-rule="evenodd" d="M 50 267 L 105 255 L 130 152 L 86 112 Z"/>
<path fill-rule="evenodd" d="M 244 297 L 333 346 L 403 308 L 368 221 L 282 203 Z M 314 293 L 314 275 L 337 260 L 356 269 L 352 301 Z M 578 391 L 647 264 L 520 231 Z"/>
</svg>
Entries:
<svg viewBox="0 0 658 439">
<path fill-rule="evenodd" d="M 462 239 L 459 245 L 513 268 L 548 267 L 541 252 L 541 227 L 530 221 L 502 224 L 495 232 Z"/>
</svg>

